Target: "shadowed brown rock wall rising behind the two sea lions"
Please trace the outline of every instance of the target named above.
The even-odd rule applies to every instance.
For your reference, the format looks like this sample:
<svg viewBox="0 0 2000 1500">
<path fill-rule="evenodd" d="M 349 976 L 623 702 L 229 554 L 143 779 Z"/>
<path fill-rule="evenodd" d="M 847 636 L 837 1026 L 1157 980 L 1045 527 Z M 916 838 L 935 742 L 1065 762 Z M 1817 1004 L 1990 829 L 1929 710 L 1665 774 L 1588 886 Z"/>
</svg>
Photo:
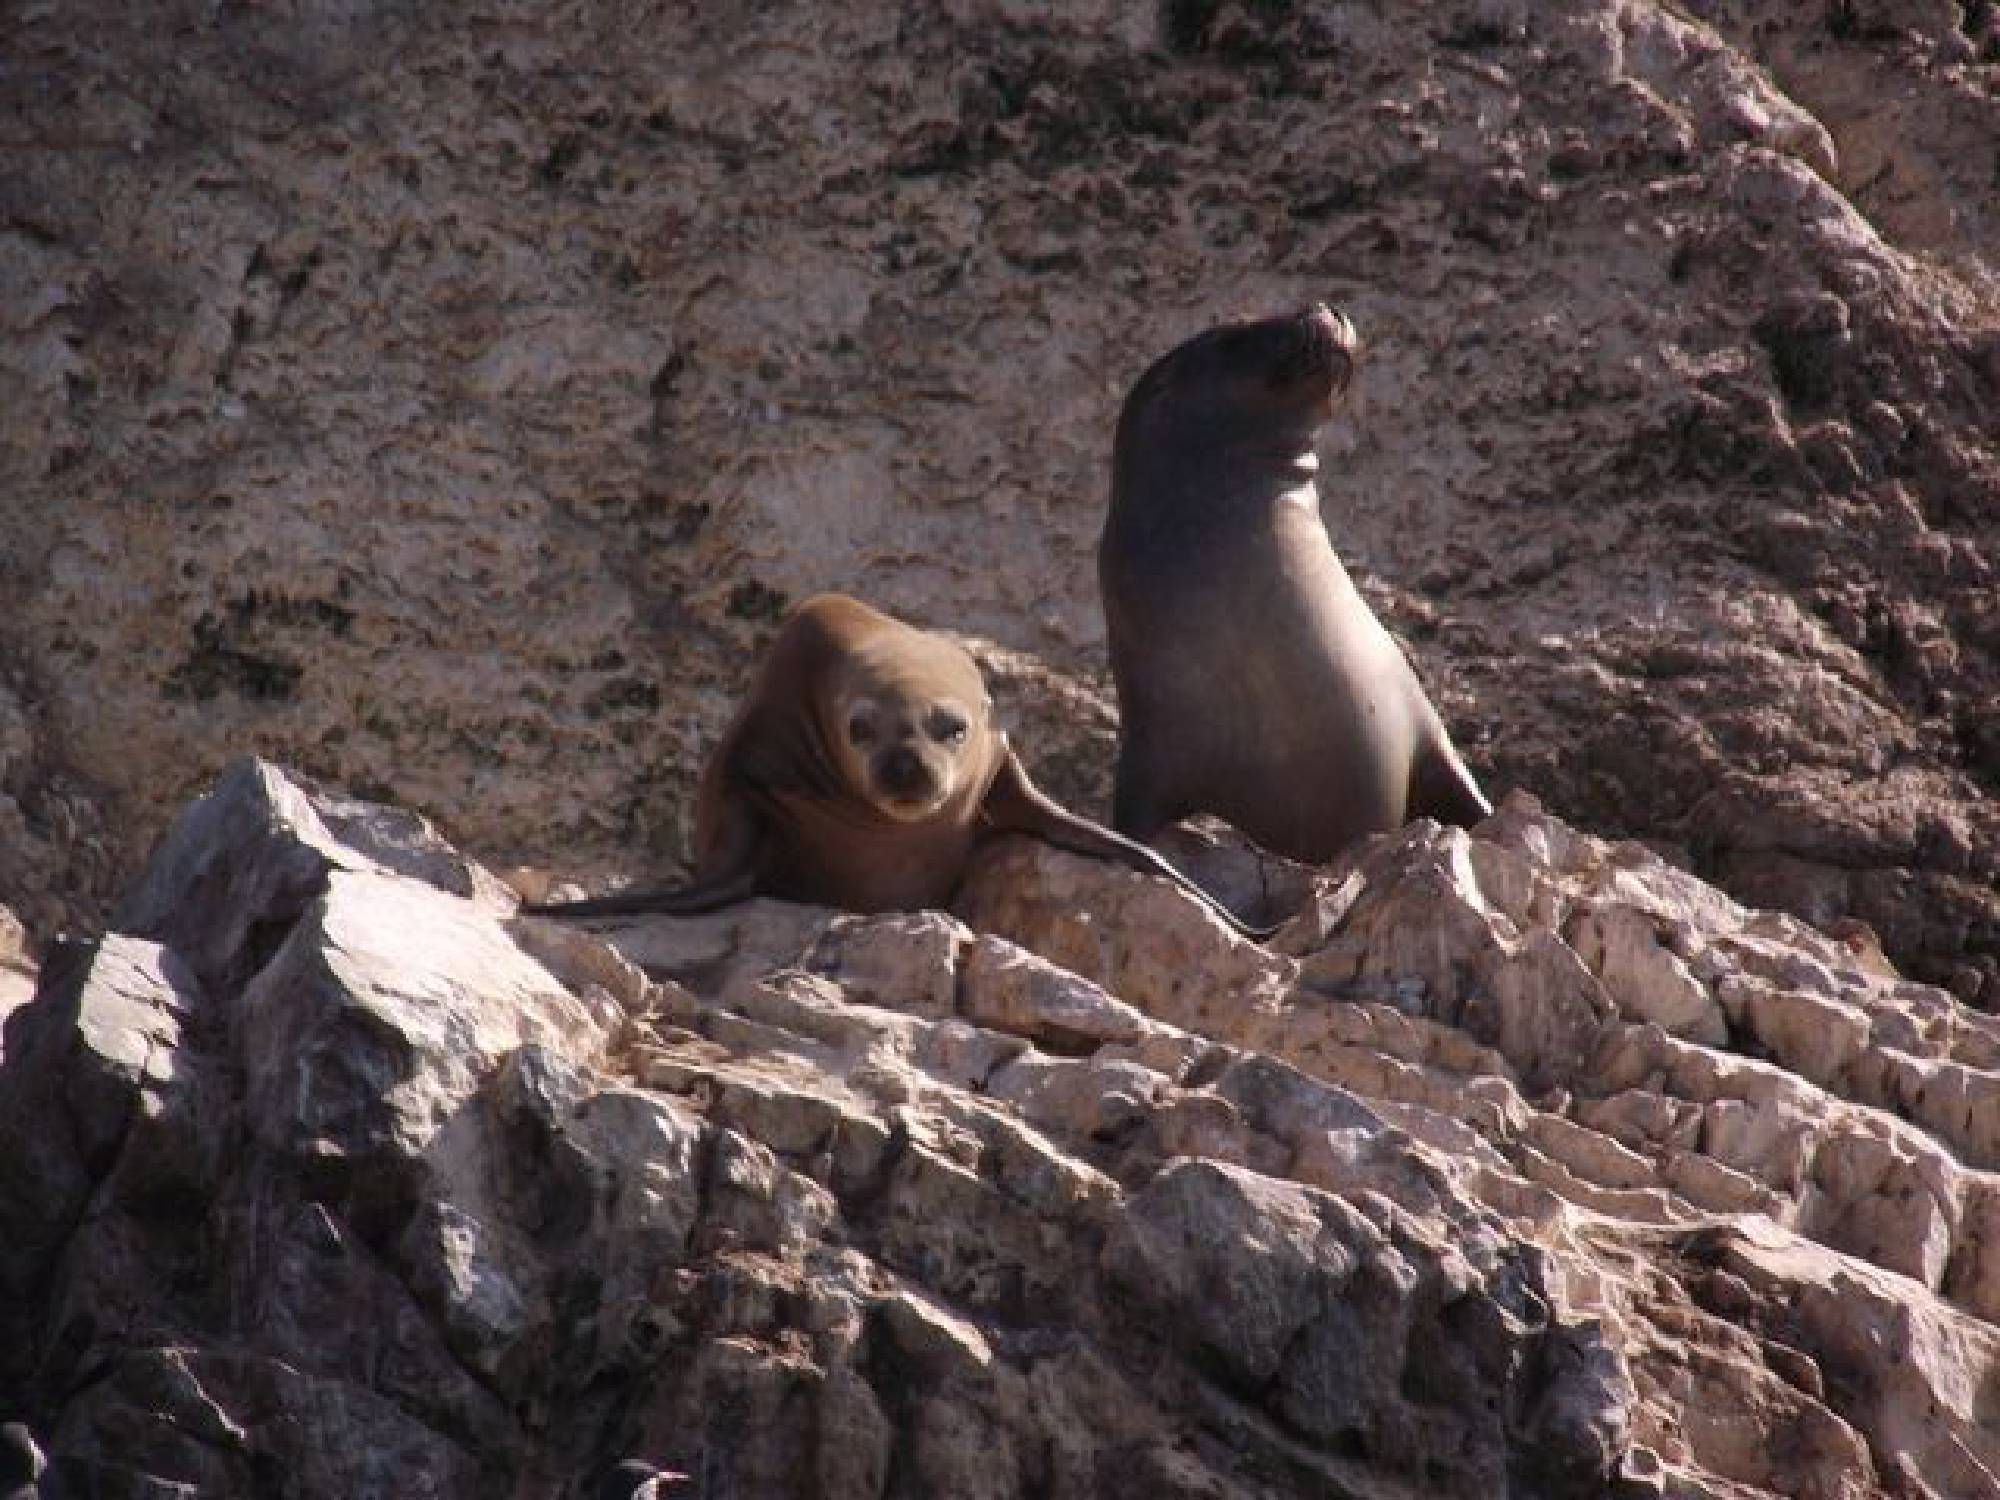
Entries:
<svg viewBox="0 0 2000 1500">
<path fill-rule="evenodd" d="M 828 586 L 998 642 L 1102 806 L 1122 390 L 1332 296 L 1328 522 L 1492 790 L 2000 1004 L 1996 26 L 26 6 L 0 900 L 100 918 L 246 746 L 662 874 Z"/>
</svg>

